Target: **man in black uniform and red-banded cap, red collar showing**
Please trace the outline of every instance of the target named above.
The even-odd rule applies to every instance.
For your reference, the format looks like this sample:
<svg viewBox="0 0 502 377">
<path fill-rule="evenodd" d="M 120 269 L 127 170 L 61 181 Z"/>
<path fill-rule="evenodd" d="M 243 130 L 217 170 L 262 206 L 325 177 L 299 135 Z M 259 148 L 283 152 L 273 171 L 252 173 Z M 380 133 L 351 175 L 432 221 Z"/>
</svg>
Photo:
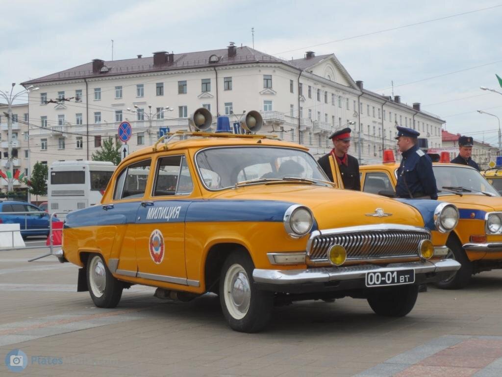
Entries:
<svg viewBox="0 0 502 377">
<path fill-rule="evenodd" d="M 328 139 L 333 141 L 334 148 L 331 152 L 319 158 L 317 162 L 319 162 L 319 165 L 321 165 L 328 178 L 334 182 L 331 166 L 329 165 L 329 156 L 332 155 L 333 159 L 338 163 L 345 189 L 361 191 L 359 163 L 355 157 L 347 154 L 348 148 L 350 147 L 351 131 L 352 130 L 347 127 L 331 134 Z"/>
</svg>

